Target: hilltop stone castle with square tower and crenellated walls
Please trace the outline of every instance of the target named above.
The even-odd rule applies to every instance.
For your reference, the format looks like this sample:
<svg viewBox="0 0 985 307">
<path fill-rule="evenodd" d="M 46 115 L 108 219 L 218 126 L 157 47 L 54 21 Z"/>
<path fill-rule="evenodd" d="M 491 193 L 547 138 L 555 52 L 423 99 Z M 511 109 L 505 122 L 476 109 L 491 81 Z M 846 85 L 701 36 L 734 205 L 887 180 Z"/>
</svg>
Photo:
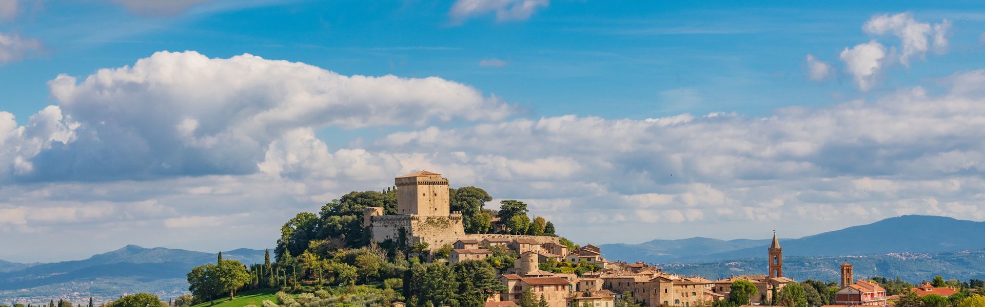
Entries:
<svg viewBox="0 0 985 307">
<path fill-rule="evenodd" d="M 369 229 L 373 242 L 398 241 L 404 235 L 408 244 L 425 242 L 432 250 L 462 239 L 525 238 L 558 243 L 559 238 L 551 236 L 465 233 L 462 213 L 451 212 L 448 179 L 441 174 L 423 170 L 396 177 L 394 183 L 396 215 L 384 215 L 379 207 L 366 208 L 362 213 L 363 226 Z"/>
</svg>

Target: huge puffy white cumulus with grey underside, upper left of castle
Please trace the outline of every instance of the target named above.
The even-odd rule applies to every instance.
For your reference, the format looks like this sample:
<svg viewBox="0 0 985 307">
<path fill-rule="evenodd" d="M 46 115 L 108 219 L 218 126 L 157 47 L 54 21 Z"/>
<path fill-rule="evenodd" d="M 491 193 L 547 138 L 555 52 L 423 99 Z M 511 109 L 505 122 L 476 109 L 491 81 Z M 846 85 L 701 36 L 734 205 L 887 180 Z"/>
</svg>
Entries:
<svg viewBox="0 0 985 307">
<path fill-rule="evenodd" d="M 258 165 L 273 167 L 264 163 L 271 145 L 300 142 L 290 139 L 299 137 L 298 129 L 499 120 L 513 112 L 494 96 L 440 78 L 342 76 L 248 54 L 210 59 L 159 52 L 83 80 L 61 75 L 49 86 L 59 104 L 35 115 L 36 125 L 10 128 L 12 119 L 0 125 L 13 136 L 7 142 L 30 144 L 0 151 L 6 157 L 0 165 L 15 170 L 0 176 L 249 174 Z"/>
</svg>

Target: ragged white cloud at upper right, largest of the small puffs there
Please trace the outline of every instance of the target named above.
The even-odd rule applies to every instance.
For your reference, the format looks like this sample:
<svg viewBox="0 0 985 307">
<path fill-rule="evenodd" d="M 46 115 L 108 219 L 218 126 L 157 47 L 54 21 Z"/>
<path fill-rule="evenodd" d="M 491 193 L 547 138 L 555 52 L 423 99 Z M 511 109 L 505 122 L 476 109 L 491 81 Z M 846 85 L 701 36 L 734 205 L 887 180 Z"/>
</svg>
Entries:
<svg viewBox="0 0 985 307">
<path fill-rule="evenodd" d="M 892 33 L 902 42 L 902 52 L 899 54 L 899 62 L 909 66 L 909 59 L 912 56 L 922 57 L 928 50 L 928 38 L 933 36 L 933 44 L 939 53 L 943 53 L 948 47 L 947 31 L 951 28 L 951 22 L 944 20 L 941 24 L 934 25 L 920 23 L 913 19 L 913 14 L 899 13 L 895 15 L 879 15 L 869 20 L 862 30 L 872 34 Z"/>
</svg>

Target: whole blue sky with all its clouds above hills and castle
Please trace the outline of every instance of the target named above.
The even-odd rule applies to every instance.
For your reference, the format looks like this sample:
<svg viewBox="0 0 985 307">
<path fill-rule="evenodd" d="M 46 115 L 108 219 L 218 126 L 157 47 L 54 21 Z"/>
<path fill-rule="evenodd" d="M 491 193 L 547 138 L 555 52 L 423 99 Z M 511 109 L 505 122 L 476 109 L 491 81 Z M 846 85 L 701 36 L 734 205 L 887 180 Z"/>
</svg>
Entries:
<svg viewBox="0 0 985 307">
<path fill-rule="evenodd" d="M 0 259 L 267 247 L 424 168 L 596 243 L 982 220 L 983 24 L 973 1 L 0 0 L 0 243 L 74 247 Z"/>
</svg>

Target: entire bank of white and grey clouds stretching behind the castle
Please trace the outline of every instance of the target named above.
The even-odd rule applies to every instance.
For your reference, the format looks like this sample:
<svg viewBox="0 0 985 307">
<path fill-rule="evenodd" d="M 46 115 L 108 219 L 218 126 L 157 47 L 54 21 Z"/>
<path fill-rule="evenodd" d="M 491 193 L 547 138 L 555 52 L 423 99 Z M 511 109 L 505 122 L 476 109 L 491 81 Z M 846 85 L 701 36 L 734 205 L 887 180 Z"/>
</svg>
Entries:
<svg viewBox="0 0 985 307">
<path fill-rule="evenodd" d="M 774 227 L 801 235 L 902 214 L 985 219 L 983 76 L 769 116 L 507 118 L 501 101 L 441 79 L 159 53 L 82 80 L 58 77 L 59 104 L 25 125 L 0 112 L 0 232 L 33 233 L 5 236 L 24 246 L 99 238 L 196 248 L 187 237 L 203 229 L 269 244 L 297 212 L 421 169 L 523 200 L 558 231 L 593 242 L 613 241 L 613 231 L 622 241 L 721 237 L 722 227 L 736 237 Z M 449 119 L 476 123 L 427 126 Z M 416 128 L 348 148 L 317 134 L 381 125 Z M 851 217 L 807 222 L 825 216 Z M 701 227 L 684 232 L 683 223 Z M 167 231 L 117 231 L 138 228 Z M 243 242 L 199 244 L 264 247 Z"/>
</svg>

